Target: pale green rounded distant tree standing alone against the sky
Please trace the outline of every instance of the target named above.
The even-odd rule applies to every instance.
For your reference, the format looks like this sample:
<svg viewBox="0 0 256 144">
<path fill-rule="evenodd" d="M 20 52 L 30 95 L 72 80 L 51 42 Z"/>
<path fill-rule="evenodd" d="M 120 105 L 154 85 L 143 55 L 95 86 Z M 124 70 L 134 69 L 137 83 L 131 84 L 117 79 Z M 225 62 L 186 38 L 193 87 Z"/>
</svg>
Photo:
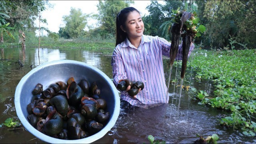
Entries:
<svg viewBox="0 0 256 144">
<path fill-rule="evenodd" d="M 63 21 L 66 23 L 64 28 L 60 28 L 59 33 L 61 37 L 64 38 L 78 38 L 84 33 L 84 28 L 86 27 L 89 14 L 83 14 L 82 10 L 79 8 L 72 8 L 70 10 L 70 15 L 63 16 Z"/>
</svg>

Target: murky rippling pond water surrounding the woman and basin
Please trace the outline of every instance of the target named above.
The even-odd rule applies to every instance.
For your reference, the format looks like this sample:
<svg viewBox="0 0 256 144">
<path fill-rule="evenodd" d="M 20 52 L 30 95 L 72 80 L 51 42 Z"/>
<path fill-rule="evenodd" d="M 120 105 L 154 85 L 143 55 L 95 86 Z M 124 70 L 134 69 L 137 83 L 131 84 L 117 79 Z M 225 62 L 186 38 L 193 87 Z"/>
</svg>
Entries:
<svg viewBox="0 0 256 144">
<path fill-rule="evenodd" d="M 85 62 L 104 72 L 112 79 L 111 56 L 97 52 L 86 51 L 82 48 L 0 48 L 0 123 L 7 118 L 17 119 L 14 106 L 15 88 L 20 79 L 32 68 L 52 60 L 77 60 Z M 18 60 L 24 65 L 20 67 Z M 32 66 L 31 66 L 32 65 Z M 168 79 L 169 58 L 164 59 L 166 80 Z M 31 66 L 31 67 L 30 67 Z M 172 78 L 180 79 L 180 68 L 172 68 Z M 176 72 L 177 71 L 177 72 Z M 178 74 L 176 74 L 178 73 Z M 186 72 L 185 86 L 206 90 L 210 96 L 213 95 L 213 84 L 211 81 L 198 82 L 194 80 L 191 70 Z M 148 135 L 153 135 L 156 140 L 164 140 L 166 143 L 193 143 L 200 134 L 206 138 L 212 134 L 218 134 L 218 143 L 256 143 L 255 138 L 246 137 L 233 129 L 222 128 L 219 120 L 223 114 L 222 110 L 210 108 L 197 104 L 188 96 L 190 91 L 182 89 L 179 95 L 178 89 L 172 84 L 169 88 L 169 104 L 153 108 L 136 108 L 127 110 L 120 109 L 120 115 L 114 127 L 102 138 L 94 143 L 149 143 Z M 175 89 L 176 88 L 176 89 Z M 180 97 L 181 96 L 181 97 Z M 180 99 L 179 99 L 180 97 Z M 177 115 L 178 104 L 179 114 Z M 166 113 L 165 113 L 166 110 Z M 12 130 L 0 128 L 0 143 L 45 143 L 24 128 Z"/>
</svg>

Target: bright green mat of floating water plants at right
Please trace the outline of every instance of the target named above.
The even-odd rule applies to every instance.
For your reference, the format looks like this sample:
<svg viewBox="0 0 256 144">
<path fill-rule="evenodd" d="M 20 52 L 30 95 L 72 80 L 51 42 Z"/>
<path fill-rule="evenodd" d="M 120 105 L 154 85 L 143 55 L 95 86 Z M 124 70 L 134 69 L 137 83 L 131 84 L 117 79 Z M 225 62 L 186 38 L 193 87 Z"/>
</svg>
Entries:
<svg viewBox="0 0 256 144">
<path fill-rule="evenodd" d="M 193 63 L 188 66 L 197 69 L 196 78 L 211 79 L 216 88 L 214 98 L 205 97 L 203 91 L 199 93 L 192 88 L 199 104 L 230 111 L 230 116 L 222 118 L 220 124 L 240 128 L 243 134 L 253 136 L 256 132 L 252 122 L 256 114 L 256 51 L 196 50 L 193 57 Z"/>
</svg>

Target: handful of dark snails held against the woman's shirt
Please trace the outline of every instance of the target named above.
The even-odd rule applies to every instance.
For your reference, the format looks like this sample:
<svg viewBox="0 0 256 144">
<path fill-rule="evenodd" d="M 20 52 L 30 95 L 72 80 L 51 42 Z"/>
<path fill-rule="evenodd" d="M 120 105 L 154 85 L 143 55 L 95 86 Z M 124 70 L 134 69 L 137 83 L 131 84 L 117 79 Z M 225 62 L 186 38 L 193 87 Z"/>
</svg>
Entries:
<svg viewBox="0 0 256 144">
<path fill-rule="evenodd" d="M 140 90 L 143 90 L 144 84 L 141 81 L 131 81 L 129 79 L 122 80 L 116 86 L 121 91 L 125 91 L 128 86 L 131 86 L 130 90 L 128 90 L 129 96 L 136 96 Z"/>
</svg>

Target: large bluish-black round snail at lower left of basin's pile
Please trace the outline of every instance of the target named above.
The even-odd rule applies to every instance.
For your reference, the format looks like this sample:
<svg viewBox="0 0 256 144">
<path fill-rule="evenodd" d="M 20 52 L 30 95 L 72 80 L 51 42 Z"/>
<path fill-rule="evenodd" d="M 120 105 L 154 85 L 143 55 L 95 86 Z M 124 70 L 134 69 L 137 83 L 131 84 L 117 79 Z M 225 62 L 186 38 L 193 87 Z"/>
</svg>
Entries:
<svg viewBox="0 0 256 144">
<path fill-rule="evenodd" d="M 46 117 L 43 131 L 49 136 L 58 134 L 62 130 L 62 124 L 62 119 L 58 113 L 53 111 Z"/>
</svg>

